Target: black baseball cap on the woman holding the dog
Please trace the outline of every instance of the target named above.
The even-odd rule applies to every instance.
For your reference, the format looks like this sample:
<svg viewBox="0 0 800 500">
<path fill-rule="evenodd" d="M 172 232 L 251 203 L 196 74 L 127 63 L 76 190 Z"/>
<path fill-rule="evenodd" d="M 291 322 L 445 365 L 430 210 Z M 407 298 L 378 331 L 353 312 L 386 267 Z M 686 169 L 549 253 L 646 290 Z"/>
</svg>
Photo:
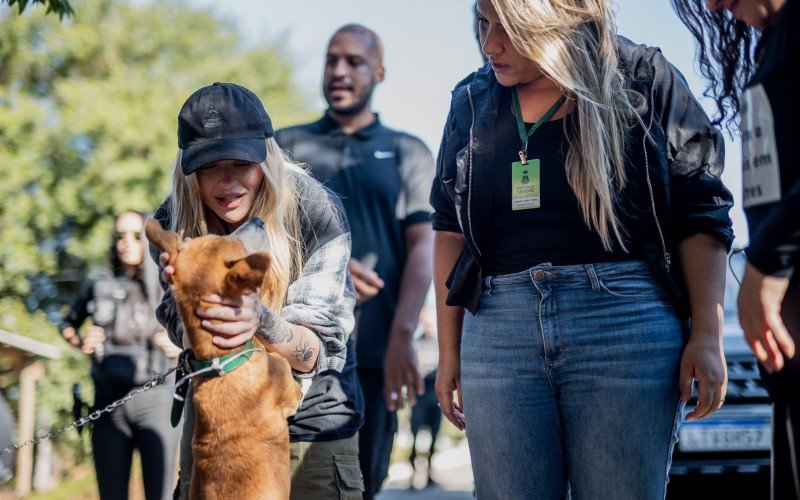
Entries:
<svg viewBox="0 0 800 500">
<path fill-rule="evenodd" d="M 181 169 L 189 175 L 219 160 L 261 163 L 275 135 L 264 105 L 235 83 L 216 82 L 192 94 L 178 115 Z"/>
</svg>

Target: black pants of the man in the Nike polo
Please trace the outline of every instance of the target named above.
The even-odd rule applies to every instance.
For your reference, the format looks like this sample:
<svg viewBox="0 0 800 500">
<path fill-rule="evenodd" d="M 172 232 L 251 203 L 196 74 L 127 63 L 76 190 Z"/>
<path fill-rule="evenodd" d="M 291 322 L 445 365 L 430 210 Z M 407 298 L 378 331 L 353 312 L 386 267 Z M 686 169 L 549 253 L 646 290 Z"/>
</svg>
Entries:
<svg viewBox="0 0 800 500">
<path fill-rule="evenodd" d="M 389 473 L 397 415 L 383 397 L 383 370 L 358 368 L 364 391 L 364 426 L 358 431 L 358 459 L 364 476 L 364 500 L 372 500 Z"/>
</svg>

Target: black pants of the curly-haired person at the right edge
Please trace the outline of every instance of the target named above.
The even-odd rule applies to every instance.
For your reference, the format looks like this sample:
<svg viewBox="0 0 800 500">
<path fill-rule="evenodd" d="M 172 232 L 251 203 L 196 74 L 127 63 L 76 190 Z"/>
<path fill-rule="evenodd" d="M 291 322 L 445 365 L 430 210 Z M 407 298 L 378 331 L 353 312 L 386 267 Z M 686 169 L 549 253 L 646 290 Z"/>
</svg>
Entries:
<svg viewBox="0 0 800 500">
<path fill-rule="evenodd" d="M 761 375 L 772 397 L 772 498 L 800 500 L 800 273 L 786 291 L 781 317 L 798 352 L 783 369 Z"/>
</svg>

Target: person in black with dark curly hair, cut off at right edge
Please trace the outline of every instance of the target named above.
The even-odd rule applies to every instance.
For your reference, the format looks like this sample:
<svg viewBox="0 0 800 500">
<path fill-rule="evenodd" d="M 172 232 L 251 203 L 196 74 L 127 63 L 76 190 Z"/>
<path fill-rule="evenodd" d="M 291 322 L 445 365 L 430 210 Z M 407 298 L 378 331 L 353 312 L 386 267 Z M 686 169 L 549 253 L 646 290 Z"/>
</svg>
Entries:
<svg viewBox="0 0 800 500">
<path fill-rule="evenodd" d="M 800 2 L 673 0 L 718 122 L 741 114 L 750 228 L 739 320 L 773 398 L 774 498 L 800 498 Z"/>
</svg>

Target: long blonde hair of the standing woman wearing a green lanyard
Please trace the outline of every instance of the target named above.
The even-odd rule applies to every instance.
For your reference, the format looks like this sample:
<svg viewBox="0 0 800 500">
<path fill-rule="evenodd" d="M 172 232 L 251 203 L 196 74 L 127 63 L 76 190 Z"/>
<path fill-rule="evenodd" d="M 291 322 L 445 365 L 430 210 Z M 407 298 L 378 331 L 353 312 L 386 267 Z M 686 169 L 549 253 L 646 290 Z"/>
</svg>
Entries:
<svg viewBox="0 0 800 500">
<path fill-rule="evenodd" d="M 575 101 L 579 137 L 568 134 L 569 184 L 606 250 L 626 249 L 614 208 L 625 187 L 625 136 L 644 98 L 625 88 L 609 0 L 491 0 L 517 51 Z M 565 122 L 566 123 L 566 122 Z"/>
</svg>

